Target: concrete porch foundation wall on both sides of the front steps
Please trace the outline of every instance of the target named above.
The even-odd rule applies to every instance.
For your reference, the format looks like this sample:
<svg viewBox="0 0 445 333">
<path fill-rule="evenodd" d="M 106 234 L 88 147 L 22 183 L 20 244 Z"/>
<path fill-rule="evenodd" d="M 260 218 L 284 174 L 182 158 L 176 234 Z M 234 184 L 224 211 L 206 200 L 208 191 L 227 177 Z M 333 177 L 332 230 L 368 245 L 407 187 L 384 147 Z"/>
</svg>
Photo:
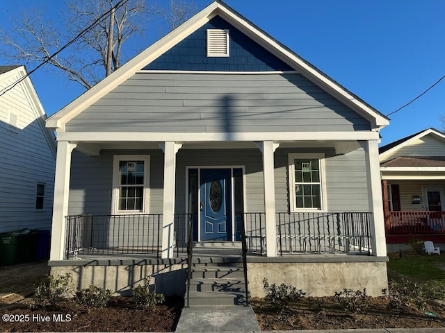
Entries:
<svg viewBox="0 0 445 333">
<path fill-rule="evenodd" d="M 268 260 L 270 258 L 263 258 Z M 275 258 L 277 259 L 277 258 Z M 108 263 L 107 263 L 108 262 Z M 90 284 L 111 289 L 115 295 L 129 295 L 131 288 L 152 276 L 150 284 L 165 296 L 184 296 L 186 292 L 187 265 L 182 263 L 129 264 L 104 261 L 88 265 L 76 262 L 75 266 L 51 267 L 52 275 L 71 273 L 78 289 Z M 50 263 L 51 264 L 51 263 Z M 68 264 L 74 265 L 74 262 Z M 369 296 L 381 296 L 388 287 L 386 260 L 370 262 L 248 262 L 249 291 L 252 297 L 264 297 L 261 281 L 269 284 L 288 284 L 302 289 L 306 296 L 334 296 L 345 288 L 362 290 Z"/>
</svg>

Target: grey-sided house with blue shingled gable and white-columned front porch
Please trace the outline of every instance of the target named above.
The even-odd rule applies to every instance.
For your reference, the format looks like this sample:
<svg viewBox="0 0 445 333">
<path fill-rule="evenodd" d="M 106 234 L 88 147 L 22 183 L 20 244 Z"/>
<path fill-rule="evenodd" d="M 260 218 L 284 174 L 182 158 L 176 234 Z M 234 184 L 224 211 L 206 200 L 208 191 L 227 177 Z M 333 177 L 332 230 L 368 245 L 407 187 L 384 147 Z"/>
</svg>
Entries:
<svg viewBox="0 0 445 333">
<path fill-rule="evenodd" d="M 196 262 L 224 261 L 245 234 L 252 296 L 263 278 L 380 295 L 388 123 L 214 1 L 47 120 L 51 271 L 116 292 L 153 275 L 184 293 L 192 241 Z"/>
</svg>

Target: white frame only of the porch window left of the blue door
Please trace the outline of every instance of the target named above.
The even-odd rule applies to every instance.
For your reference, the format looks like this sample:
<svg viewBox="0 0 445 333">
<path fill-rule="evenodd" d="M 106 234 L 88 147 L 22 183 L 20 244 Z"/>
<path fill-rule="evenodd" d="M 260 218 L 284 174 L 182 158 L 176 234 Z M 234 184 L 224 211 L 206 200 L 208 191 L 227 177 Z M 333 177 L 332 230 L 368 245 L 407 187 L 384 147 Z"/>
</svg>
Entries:
<svg viewBox="0 0 445 333">
<path fill-rule="evenodd" d="M 144 161 L 144 189 L 143 210 L 119 210 L 119 162 L 120 161 Z M 111 214 L 113 215 L 136 215 L 148 214 L 149 212 L 149 175 L 150 155 L 114 155 L 113 156 L 113 194 L 111 203 Z"/>
</svg>

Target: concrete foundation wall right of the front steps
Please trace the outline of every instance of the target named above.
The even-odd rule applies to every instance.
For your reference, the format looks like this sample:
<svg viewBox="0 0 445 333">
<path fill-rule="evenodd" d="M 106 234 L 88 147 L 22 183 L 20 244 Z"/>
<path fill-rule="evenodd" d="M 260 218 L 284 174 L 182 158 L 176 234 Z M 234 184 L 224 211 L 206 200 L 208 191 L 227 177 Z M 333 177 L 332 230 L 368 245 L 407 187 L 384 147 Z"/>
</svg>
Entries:
<svg viewBox="0 0 445 333">
<path fill-rule="evenodd" d="M 363 290 L 369 296 L 382 296 L 388 288 L 386 262 L 249 263 L 249 291 L 264 297 L 261 281 L 293 285 L 305 296 L 334 296 L 345 288 Z"/>
</svg>

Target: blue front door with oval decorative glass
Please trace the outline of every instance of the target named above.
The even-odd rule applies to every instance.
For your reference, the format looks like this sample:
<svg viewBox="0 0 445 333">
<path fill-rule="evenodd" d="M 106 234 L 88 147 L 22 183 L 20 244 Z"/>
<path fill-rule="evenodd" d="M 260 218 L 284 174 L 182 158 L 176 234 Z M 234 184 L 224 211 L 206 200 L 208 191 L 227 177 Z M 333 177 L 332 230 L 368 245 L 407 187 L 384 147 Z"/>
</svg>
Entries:
<svg viewBox="0 0 445 333">
<path fill-rule="evenodd" d="M 232 240 L 230 169 L 201 169 L 201 241 Z"/>
</svg>

